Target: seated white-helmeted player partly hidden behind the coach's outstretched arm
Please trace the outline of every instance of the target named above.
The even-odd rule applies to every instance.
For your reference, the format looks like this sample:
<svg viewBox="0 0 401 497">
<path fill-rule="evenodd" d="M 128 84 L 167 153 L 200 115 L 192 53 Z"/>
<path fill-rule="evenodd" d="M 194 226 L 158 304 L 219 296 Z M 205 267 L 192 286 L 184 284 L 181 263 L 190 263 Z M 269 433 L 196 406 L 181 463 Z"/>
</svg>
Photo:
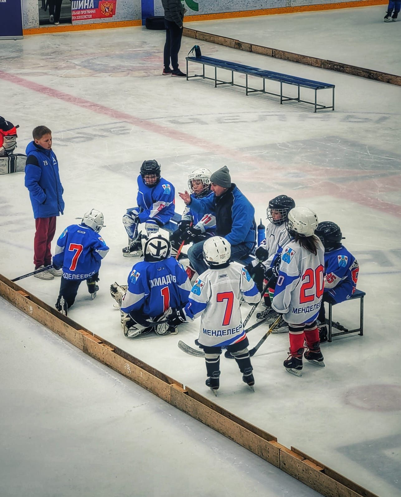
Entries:
<svg viewBox="0 0 401 497">
<path fill-rule="evenodd" d="M 209 169 L 195 170 L 188 176 L 188 186 L 191 196 L 194 198 L 207 198 L 213 195 L 210 188 Z M 214 235 L 216 229 L 216 218 L 212 214 L 200 216 L 193 212 L 190 206 L 186 206 L 178 229 L 171 235 L 170 242 L 174 250 L 178 250 L 182 242 L 198 243 Z M 174 255 L 174 254 L 173 254 Z"/>
</svg>

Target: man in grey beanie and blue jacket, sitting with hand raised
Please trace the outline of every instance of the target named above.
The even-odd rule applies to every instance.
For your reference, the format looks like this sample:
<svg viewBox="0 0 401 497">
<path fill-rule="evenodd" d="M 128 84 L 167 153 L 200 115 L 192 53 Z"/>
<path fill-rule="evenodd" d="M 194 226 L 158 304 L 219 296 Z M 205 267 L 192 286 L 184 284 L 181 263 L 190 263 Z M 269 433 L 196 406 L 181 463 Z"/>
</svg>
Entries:
<svg viewBox="0 0 401 497">
<path fill-rule="evenodd" d="M 231 259 L 241 259 L 256 245 L 255 209 L 236 185 L 231 183 L 227 166 L 213 172 L 210 183 L 214 193 L 211 197 L 195 198 L 187 191 L 179 195 L 198 214 L 215 215 L 216 235 L 230 242 Z M 190 231 L 194 229 L 196 228 L 189 228 Z M 198 274 L 208 269 L 203 260 L 203 242 L 194 244 L 188 250 L 188 257 Z"/>
</svg>

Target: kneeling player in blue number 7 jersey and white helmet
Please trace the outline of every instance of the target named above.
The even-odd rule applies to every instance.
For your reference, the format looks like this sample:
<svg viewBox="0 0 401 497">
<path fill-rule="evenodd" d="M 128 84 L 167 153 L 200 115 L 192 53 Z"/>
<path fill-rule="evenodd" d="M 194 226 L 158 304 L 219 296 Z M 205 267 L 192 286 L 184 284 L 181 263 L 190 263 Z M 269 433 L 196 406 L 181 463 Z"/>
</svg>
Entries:
<svg viewBox="0 0 401 497">
<path fill-rule="evenodd" d="M 68 226 L 57 240 L 53 267 L 62 267 L 63 276 L 56 309 L 65 316 L 67 309 L 74 304 L 83 280 L 87 282 L 92 299 L 99 290 L 96 282 L 99 281 L 100 263 L 109 250 L 99 235 L 103 226 L 103 214 L 92 209 L 84 215 L 80 224 Z"/>
</svg>

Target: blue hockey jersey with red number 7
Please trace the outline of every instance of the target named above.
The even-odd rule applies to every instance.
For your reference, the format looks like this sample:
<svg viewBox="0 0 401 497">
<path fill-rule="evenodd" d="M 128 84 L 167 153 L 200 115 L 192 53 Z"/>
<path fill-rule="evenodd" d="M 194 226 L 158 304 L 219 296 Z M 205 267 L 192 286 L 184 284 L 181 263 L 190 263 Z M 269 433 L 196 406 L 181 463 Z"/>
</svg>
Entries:
<svg viewBox="0 0 401 497">
<path fill-rule="evenodd" d="M 108 250 L 95 230 L 84 224 L 72 224 L 57 240 L 53 263 L 63 268 L 65 279 L 84 280 L 99 271 Z"/>
</svg>

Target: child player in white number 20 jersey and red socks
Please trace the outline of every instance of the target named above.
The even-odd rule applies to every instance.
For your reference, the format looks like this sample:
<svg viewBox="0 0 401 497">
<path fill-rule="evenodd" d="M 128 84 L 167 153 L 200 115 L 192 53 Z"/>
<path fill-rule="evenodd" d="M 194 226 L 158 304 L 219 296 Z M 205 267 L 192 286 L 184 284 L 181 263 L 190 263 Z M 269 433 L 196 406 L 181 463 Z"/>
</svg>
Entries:
<svg viewBox="0 0 401 497">
<path fill-rule="evenodd" d="M 290 242 L 282 252 L 272 308 L 283 314 L 290 330 L 289 358 L 284 367 L 302 375 L 303 343 L 305 359 L 324 366 L 316 318 L 323 296 L 324 248 L 314 236 L 317 216 L 307 207 L 295 207 L 286 222 Z"/>
</svg>

